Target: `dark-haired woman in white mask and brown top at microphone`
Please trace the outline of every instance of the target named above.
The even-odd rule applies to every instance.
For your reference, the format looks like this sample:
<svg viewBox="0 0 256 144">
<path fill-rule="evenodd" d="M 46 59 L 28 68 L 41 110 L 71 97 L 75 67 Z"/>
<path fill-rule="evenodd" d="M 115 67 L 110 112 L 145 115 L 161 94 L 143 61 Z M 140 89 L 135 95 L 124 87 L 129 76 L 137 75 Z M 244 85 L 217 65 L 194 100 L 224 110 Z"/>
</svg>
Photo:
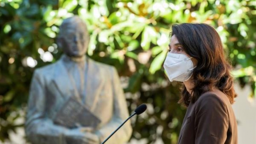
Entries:
<svg viewBox="0 0 256 144">
<path fill-rule="evenodd" d="M 172 26 L 164 69 L 183 82 L 180 103 L 188 109 L 178 144 L 237 144 L 231 104 L 236 93 L 220 36 L 207 24 Z"/>
</svg>

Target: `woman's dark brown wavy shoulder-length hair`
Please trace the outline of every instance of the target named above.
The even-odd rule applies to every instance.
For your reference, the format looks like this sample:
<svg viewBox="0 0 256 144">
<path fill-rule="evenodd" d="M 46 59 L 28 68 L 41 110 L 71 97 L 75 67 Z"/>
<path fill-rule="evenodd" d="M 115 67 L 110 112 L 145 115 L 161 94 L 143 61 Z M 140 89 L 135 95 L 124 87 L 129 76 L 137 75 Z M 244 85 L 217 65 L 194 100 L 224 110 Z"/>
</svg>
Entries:
<svg viewBox="0 0 256 144">
<path fill-rule="evenodd" d="M 207 24 L 182 23 L 172 25 L 170 36 L 175 35 L 184 51 L 198 61 L 193 70 L 194 88 L 191 94 L 183 86 L 180 103 L 194 103 L 204 92 L 217 87 L 234 103 L 236 92 L 230 74 L 231 65 L 225 59 L 223 45 L 217 31 Z"/>
</svg>

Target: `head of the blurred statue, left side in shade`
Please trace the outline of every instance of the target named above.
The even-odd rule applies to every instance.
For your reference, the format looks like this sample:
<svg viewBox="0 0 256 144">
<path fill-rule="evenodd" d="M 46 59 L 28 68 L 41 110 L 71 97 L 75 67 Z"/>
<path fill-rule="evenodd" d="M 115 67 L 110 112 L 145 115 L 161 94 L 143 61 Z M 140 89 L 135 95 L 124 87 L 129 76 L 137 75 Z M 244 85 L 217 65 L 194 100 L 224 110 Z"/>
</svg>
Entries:
<svg viewBox="0 0 256 144">
<path fill-rule="evenodd" d="M 90 36 L 86 24 L 78 16 L 63 20 L 57 44 L 70 57 L 82 57 L 88 48 Z"/>
</svg>

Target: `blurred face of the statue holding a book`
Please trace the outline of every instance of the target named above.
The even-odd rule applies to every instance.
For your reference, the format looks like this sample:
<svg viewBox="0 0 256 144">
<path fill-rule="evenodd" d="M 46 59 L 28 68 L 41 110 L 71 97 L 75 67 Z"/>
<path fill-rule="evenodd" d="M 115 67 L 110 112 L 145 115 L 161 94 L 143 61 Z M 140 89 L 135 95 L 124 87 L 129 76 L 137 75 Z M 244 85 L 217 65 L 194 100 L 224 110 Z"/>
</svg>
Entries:
<svg viewBox="0 0 256 144">
<path fill-rule="evenodd" d="M 63 52 L 71 57 L 83 56 L 88 47 L 89 36 L 87 31 L 79 25 L 71 25 L 63 29 L 62 36 L 59 39 Z"/>
</svg>

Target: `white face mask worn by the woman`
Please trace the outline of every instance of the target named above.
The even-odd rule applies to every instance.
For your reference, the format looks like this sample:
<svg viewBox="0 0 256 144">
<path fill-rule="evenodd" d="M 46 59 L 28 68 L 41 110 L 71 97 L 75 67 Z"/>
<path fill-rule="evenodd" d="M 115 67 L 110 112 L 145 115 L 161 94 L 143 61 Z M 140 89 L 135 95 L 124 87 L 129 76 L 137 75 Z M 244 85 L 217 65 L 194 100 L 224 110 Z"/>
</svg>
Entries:
<svg viewBox="0 0 256 144">
<path fill-rule="evenodd" d="M 192 57 L 191 57 L 192 58 Z M 169 80 L 184 82 L 192 76 L 193 62 L 188 56 L 180 53 L 168 52 L 164 60 L 164 69 Z"/>
</svg>

